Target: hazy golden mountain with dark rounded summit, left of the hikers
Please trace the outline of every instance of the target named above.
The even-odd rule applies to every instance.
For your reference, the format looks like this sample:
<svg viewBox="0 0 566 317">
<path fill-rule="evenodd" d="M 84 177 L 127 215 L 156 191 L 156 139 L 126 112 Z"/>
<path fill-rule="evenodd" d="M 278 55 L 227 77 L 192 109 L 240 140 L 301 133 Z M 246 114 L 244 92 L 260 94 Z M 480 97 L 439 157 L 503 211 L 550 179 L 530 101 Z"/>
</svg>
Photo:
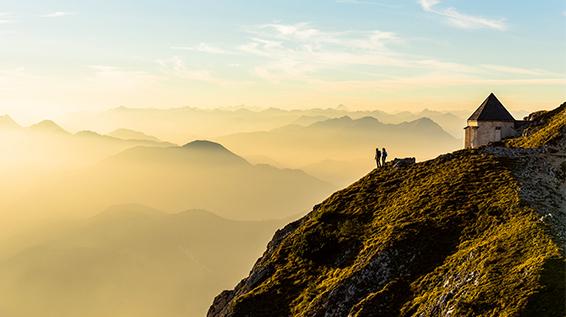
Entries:
<svg viewBox="0 0 566 317">
<path fill-rule="evenodd" d="M 280 219 L 299 214 L 334 186 L 300 170 L 253 165 L 210 141 L 134 147 L 98 164 L 41 180 L 19 206 L 25 217 L 88 215 L 138 203 L 160 210 L 200 208 L 233 219 Z M 32 213 L 31 215 L 29 213 Z"/>
</svg>

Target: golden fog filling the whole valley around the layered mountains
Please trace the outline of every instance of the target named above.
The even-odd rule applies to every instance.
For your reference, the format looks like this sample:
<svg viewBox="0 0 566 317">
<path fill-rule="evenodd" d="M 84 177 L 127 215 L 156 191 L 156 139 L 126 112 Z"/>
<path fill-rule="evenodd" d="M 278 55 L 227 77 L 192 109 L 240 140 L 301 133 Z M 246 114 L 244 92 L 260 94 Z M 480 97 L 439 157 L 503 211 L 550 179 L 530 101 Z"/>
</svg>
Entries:
<svg viewBox="0 0 566 317">
<path fill-rule="evenodd" d="M 441 123 L 339 109 L 2 116 L 0 315 L 203 316 L 277 228 L 373 169 L 375 147 L 420 160 L 458 148 L 460 118 L 429 114 Z"/>
</svg>

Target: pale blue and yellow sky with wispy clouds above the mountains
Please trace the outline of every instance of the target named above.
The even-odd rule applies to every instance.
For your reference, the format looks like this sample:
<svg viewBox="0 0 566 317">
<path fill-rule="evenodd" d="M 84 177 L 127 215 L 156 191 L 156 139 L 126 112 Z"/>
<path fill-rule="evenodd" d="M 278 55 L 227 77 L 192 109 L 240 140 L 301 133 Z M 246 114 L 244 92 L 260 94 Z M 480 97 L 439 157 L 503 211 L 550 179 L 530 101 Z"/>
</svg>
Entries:
<svg viewBox="0 0 566 317">
<path fill-rule="evenodd" d="M 566 101 L 566 1 L 0 0 L 0 114 Z"/>
</svg>

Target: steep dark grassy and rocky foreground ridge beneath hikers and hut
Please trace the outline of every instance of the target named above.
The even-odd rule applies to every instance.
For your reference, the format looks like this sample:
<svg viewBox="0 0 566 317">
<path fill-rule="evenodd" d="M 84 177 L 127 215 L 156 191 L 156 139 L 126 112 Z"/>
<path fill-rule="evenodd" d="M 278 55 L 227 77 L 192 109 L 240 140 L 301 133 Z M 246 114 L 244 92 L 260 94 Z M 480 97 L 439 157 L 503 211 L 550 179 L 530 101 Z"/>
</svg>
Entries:
<svg viewBox="0 0 566 317">
<path fill-rule="evenodd" d="M 564 316 L 565 117 L 374 170 L 278 231 L 208 316 Z"/>
</svg>

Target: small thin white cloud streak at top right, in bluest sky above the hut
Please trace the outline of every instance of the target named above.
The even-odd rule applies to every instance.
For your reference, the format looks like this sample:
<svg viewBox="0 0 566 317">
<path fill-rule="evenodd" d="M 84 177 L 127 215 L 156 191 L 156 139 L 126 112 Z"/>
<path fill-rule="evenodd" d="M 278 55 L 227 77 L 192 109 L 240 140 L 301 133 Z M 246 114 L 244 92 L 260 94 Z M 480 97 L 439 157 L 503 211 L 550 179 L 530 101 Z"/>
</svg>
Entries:
<svg viewBox="0 0 566 317">
<path fill-rule="evenodd" d="M 440 3 L 441 0 L 419 0 L 419 4 L 424 11 L 440 15 L 456 27 L 464 29 L 487 28 L 499 31 L 507 29 L 505 19 L 490 19 L 481 16 L 468 15 L 461 13 L 452 7 L 438 8 Z"/>
</svg>

